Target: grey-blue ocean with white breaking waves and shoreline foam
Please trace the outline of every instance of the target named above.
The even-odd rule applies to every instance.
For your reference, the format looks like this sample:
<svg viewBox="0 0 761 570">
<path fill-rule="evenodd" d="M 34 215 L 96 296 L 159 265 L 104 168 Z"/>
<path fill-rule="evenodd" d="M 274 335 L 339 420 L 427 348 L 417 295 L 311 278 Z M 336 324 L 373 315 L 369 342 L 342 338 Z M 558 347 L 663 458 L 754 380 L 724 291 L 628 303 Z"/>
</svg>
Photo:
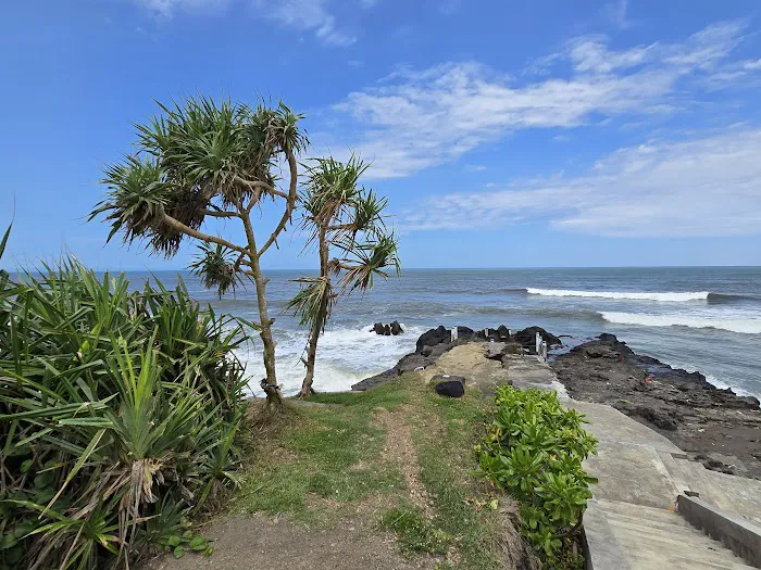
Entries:
<svg viewBox="0 0 761 570">
<path fill-rule="evenodd" d="M 166 286 L 176 273 L 153 274 Z M 215 311 L 255 316 L 253 288 L 217 300 L 200 281 L 180 274 L 190 294 Z M 298 391 L 307 332 L 282 314 L 302 271 L 270 271 L 267 293 L 275 317 L 277 373 L 287 395 Z M 133 281 L 149 277 L 130 273 Z M 398 320 L 399 337 L 370 332 L 373 322 Z M 364 295 L 339 299 L 320 341 L 314 388 L 349 390 L 414 351 L 417 337 L 444 325 L 473 329 L 532 325 L 574 344 L 611 332 L 636 352 L 674 367 L 699 370 L 720 388 L 761 397 L 761 268 L 407 269 L 376 279 Z M 261 343 L 239 352 L 259 395 Z"/>
</svg>

